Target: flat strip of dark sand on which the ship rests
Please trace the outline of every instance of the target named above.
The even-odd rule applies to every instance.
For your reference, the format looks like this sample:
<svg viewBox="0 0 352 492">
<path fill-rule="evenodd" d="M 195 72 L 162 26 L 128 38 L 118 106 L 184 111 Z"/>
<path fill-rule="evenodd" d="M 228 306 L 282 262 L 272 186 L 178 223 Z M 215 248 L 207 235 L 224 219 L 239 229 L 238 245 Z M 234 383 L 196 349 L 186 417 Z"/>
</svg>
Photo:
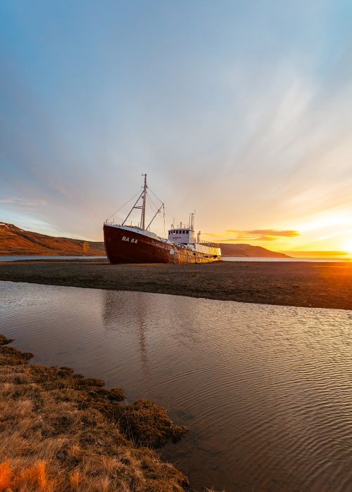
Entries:
<svg viewBox="0 0 352 492">
<path fill-rule="evenodd" d="M 0 263 L 0 280 L 352 309 L 352 264 L 342 262 L 110 265 L 98 259 L 16 261 Z"/>
</svg>

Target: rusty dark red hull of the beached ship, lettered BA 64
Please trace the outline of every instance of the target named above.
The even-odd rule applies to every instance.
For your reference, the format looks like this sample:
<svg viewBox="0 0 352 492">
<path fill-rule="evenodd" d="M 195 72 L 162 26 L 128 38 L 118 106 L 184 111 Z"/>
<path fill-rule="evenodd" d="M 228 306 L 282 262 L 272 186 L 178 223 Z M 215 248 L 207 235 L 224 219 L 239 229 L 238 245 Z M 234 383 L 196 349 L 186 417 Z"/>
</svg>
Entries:
<svg viewBox="0 0 352 492">
<path fill-rule="evenodd" d="M 172 243 L 134 227 L 104 224 L 103 234 L 106 256 L 111 264 L 190 264 L 210 263 L 221 259 L 219 254 L 196 251 L 192 247 Z"/>
</svg>

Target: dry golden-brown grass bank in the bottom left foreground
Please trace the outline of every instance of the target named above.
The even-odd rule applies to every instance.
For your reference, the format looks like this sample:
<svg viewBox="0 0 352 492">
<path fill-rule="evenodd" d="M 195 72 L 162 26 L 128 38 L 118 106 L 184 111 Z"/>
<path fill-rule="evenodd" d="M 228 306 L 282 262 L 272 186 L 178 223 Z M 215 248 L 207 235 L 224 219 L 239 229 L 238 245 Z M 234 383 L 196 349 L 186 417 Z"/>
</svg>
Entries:
<svg viewBox="0 0 352 492">
<path fill-rule="evenodd" d="M 0 335 L 0 492 L 184 491 L 156 448 L 187 432 L 149 401 L 70 368 L 28 365 Z"/>
</svg>

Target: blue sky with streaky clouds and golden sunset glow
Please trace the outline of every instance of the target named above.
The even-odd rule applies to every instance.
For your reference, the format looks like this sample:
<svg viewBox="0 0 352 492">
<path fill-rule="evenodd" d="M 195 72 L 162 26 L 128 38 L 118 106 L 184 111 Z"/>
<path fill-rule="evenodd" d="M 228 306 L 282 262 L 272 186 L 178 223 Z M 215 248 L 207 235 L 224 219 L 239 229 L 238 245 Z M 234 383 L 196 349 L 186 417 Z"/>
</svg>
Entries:
<svg viewBox="0 0 352 492">
<path fill-rule="evenodd" d="M 351 25 L 340 0 L 2 0 L 0 221 L 102 240 L 146 173 L 166 229 L 352 253 Z"/>
</svg>

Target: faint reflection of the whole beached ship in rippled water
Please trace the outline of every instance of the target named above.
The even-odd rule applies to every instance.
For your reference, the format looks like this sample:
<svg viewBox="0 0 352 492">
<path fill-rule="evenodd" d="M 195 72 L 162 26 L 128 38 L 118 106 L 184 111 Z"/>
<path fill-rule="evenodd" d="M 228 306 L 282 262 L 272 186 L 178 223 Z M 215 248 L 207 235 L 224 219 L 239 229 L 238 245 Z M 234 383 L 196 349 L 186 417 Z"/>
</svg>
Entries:
<svg viewBox="0 0 352 492">
<path fill-rule="evenodd" d="M 194 299 L 182 298 L 180 316 L 178 296 L 101 290 L 101 297 L 104 329 L 118 335 L 122 351 L 134 353 L 145 376 L 158 367 L 160 352 L 174 346 L 187 351 L 201 340 L 204 299 L 194 303 Z M 163 370 L 168 373 L 168 368 Z"/>
</svg>

